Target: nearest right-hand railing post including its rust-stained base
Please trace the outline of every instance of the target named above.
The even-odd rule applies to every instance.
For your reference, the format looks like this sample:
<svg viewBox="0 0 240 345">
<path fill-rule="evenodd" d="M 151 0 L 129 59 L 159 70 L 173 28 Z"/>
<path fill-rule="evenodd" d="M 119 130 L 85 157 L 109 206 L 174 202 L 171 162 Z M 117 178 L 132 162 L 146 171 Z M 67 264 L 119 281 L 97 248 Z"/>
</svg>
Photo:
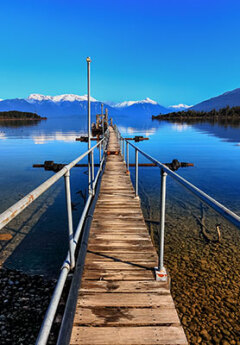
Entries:
<svg viewBox="0 0 240 345">
<path fill-rule="evenodd" d="M 161 169 L 161 194 L 160 194 L 160 228 L 159 228 L 159 259 L 156 270 L 156 280 L 166 281 L 167 272 L 164 268 L 164 232 L 165 232 L 165 213 L 166 213 L 166 179 L 167 173 Z"/>
</svg>

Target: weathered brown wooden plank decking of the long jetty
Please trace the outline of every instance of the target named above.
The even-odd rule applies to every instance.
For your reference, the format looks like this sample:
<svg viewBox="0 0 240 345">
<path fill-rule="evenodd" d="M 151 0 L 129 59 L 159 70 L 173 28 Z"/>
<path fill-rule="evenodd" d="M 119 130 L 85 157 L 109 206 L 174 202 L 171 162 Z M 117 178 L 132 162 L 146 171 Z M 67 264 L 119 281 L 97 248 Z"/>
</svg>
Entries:
<svg viewBox="0 0 240 345">
<path fill-rule="evenodd" d="M 109 151 L 119 151 L 110 127 Z M 120 155 L 109 155 L 90 230 L 70 344 L 187 344 Z"/>
</svg>

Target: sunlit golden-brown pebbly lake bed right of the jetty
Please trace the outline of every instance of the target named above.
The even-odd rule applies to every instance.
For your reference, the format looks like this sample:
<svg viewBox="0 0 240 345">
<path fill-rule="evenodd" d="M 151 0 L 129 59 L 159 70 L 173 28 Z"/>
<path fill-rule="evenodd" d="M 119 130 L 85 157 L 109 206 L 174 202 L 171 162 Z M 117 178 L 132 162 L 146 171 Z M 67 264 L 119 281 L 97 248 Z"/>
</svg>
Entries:
<svg viewBox="0 0 240 345">
<path fill-rule="evenodd" d="M 178 315 L 190 345 L 240 345 L 240 232 L 208 210 L 203 233 L 195 206 L 175 199 L 167 208 L 165 265 Z M 151 213 L 159 219 L 156 207 Z M 158 227 L 150 231 L 157 247 Z"/>
</svg>

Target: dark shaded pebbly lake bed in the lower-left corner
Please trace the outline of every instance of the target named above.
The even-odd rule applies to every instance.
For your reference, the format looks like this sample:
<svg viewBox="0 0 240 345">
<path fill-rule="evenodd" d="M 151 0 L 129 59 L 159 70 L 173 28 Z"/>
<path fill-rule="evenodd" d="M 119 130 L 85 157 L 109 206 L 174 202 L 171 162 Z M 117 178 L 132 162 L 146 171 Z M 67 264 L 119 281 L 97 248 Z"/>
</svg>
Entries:
<svg viewBox="0 0 240 345">
<path fill-rule="evenodd" d="M 0 339 L 2 345 L 35 344 L 55 280 L 0 269 Z"/>
</svg>

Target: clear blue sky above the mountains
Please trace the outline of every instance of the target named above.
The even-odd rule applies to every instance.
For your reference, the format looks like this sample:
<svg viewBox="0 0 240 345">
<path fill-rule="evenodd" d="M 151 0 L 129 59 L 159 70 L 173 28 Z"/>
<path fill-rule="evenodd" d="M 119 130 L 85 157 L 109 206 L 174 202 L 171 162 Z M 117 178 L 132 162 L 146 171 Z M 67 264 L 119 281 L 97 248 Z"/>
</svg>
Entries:
<svg viewBox="0 0 240 345">
<path fill-rule="evenodd" d="M 239 0 L 0 4 L 0 98 L 86 93 L 196 104 L 240 87 Z"/>
</svg>

